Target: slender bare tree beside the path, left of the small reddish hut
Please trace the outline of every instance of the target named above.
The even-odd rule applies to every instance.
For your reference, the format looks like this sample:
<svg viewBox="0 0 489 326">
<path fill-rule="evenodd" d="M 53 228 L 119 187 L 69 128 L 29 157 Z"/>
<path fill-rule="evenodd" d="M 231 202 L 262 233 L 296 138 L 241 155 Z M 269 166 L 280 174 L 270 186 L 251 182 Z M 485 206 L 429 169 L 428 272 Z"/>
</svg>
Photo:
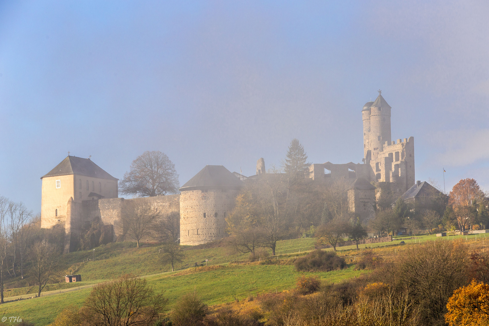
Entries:
<svg viewBox="0 0 489 326">
<path fill-rule="evenodd" d="M 56 279 L 54 272 L 58 266 L 58 255 L 56 247 L 45 241 L 36 242 L 30 248 L 31 275 L 39 286 L 37 297 L 41 296 L 47 282 Z"/>
</svg>

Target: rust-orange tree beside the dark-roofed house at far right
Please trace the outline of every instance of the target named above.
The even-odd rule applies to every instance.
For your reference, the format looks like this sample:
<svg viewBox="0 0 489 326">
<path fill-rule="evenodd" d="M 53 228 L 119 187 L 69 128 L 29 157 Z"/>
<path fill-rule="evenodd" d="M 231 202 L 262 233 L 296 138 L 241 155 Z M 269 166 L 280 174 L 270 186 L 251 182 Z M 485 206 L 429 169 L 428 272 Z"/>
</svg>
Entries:
<svg viewBox="0 0 489 326">
<path fill-rule="evenodd" d="M 448 196 L 448 204 L 453 207 L 461 231 L 477 222 L 477 205 L 484 200 L 484 192 L 477 181 L 470 178 L 460 180 Z"/>
</svg>

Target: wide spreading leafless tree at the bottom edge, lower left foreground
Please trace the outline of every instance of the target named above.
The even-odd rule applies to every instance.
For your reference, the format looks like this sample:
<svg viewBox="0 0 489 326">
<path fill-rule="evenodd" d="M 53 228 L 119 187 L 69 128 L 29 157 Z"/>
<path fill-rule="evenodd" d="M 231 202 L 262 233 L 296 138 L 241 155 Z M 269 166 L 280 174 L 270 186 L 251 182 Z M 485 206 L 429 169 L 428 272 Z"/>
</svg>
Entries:
<svg viewBox="0 0 489 326">
<path fill-rule="evenodd" d="M 95 285 L 80 309 L 89 325 L 153 326 L 168 299 L 132 275 Z"/>
</svg>

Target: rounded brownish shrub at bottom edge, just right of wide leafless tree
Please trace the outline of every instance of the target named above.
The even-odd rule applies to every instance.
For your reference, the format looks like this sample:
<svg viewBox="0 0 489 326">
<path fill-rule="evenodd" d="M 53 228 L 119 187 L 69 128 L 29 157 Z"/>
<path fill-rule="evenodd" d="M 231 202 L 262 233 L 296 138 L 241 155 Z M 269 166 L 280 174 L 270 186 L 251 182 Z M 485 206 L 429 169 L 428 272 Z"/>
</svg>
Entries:
<svg viewBox="0 0 489 326">
<path fill-rule="evenodd" d="M 204 325 L 209 308 L 200 300 L 197 292 L 185 294 L 178 300 L 172 311 L 172 322 L 175 326 Z"/>
</svg>

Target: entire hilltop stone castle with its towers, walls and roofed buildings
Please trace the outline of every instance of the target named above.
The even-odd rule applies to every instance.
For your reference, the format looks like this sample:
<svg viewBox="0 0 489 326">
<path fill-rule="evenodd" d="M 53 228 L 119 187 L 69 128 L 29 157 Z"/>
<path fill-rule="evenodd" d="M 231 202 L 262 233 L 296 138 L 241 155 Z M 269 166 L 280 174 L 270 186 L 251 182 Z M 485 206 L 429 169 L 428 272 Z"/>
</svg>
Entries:
<svg viewBox="0 0 489 326">
<path fill-rule="evenodd" d="M 349 211 L 368 221 L 375 217 L 374 184 L 388 183 L 400 194 L 414 184 L 414 138 L 391 141 L 391 107 L 380 91 L 361 112 L 363 163 L 311 164 L 309 177 L 325 187 L 342 180 L 349 188 Z M 124 234 L 124 201 L 145 200 L 162 214 L 180 215 L 180 244 L 202 244 L 225 236 L 225 217 L 244 182 L 265 173 L 263 158 L 250 177 L 231 173 L 221 165 L 207 165 L 179 189 L 180 194 L 124 199 L 118 196 L 117 178 L 89 158 L 68 155 L 41 177 L 41 227 L 65 226 L 65 252 L 73 250 L 73 236 L 81 231 L 82 224 L 96 217 L 113 228 L 115 240 Z"/>
</svg>

